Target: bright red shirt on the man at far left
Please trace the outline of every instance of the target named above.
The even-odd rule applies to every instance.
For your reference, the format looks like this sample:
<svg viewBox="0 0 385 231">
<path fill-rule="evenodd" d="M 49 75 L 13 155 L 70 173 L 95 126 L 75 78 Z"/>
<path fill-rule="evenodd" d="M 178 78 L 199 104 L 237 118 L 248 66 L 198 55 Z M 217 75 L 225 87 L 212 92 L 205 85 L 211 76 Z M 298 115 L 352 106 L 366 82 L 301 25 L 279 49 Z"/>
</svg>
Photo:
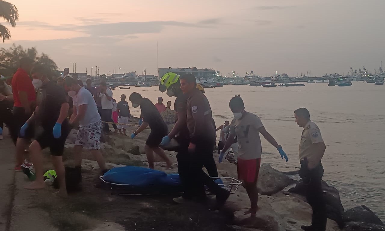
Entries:
<svg viewBox="0 0 385 231">
<path fill-rule="evenodd" d="M 32 80 L 29 78 L 27 72 L 18 68 L 12 78 L 12 93 L 15 100 L 15 107 L 22 107 L 20 102 L 19 91 L 27 92 L 28 102 L 35 101 L 36 93 L 35 87 L 33 87 Z"/>
</svg>

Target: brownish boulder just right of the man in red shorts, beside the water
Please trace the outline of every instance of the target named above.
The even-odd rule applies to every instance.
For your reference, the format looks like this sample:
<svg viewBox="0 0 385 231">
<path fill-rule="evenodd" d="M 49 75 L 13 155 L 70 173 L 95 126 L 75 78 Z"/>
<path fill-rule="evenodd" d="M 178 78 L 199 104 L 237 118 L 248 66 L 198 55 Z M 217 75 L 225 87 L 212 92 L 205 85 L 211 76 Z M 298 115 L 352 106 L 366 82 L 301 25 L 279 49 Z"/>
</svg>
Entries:
<svg viewBox="0 0 385 231">
<path fill-rule="evenodd" d="M 273 195 L 292 183 L 295 183 L 295 180 L 270 165 L 262 165 L 259 169 L 257 187 L 261 195 Z"/>
</svg>

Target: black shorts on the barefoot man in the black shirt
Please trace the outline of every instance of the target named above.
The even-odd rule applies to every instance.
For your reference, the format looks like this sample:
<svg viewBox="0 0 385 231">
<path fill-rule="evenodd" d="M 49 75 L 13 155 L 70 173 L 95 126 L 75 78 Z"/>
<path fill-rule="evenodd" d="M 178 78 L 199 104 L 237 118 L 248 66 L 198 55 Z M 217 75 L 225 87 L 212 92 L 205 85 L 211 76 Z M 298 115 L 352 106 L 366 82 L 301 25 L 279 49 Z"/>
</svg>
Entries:
<svg viewBox="0 0 385 231">
<path fill-rule="evenodd" d="M 37 131 L 39 129 L 36 129 Z M 52 134 L 53 128 L 42 129 L 41 134 L 37 134 L 36 141 L 40 144 L 42 150 L 44 148 L 50 149 L 51 155 L 53 156 L 62 156 L 64 152 L 64 144 L 67 139 L 70 129 L 68 125 L 62 125 L 62 134 L 59 139 L 55 139 L 54 134 Z"/>
</svg>

